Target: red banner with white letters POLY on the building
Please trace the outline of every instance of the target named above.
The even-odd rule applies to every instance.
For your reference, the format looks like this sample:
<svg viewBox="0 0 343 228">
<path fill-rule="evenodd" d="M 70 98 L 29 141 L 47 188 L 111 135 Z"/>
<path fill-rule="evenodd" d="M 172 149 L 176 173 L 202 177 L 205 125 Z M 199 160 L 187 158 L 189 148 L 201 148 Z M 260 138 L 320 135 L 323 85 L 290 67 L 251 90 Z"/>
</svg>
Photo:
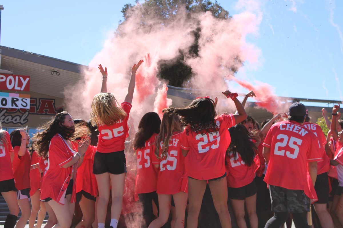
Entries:
<svg viewBox="0 0 343 228">
<path fill-rule="evenodd" d="M 30 91 L 30 76 L 0 74 L 0 90 Z"/>
</svg>

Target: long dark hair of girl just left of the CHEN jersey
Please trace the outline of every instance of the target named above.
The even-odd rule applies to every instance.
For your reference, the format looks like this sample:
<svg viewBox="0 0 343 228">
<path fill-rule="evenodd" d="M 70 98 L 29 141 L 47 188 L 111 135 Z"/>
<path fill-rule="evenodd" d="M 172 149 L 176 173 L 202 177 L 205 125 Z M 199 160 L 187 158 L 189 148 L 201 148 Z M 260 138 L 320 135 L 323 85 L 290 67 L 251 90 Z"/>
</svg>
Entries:
<svg viewBox="0 0 343 228">
<path fill-rule="evenodd" d="M 251 139 L 256 141 L 258 139 L 241 124 L 229 128 L 229 132 L 231 143 L 226 151 L 226 155 L 233 153 L 235 159 L 237 159 L 237 153 L 239 153 L 245 164 L 251 166 L 255 158 L 255 151 L 257 151 L 257 147 Z"/>
</svg>

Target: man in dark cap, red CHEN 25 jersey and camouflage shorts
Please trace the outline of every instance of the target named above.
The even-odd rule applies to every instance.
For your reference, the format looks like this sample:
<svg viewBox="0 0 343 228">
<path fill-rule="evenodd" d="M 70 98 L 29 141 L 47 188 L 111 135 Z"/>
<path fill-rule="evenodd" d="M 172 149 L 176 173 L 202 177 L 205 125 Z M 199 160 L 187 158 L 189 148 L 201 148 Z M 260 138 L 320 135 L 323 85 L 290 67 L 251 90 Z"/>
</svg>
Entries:
<svg viewBox="0 0 343 228">
<path fill-rule="evenodd" d="M 305 105 L 292 104 L 288 119 L 275 123 L 265 137 L 263 156 L 268 169 L 264 181 L 275 213 L 265 228 L 279 228 L 289 213 L 295 227 L 309 227 L 306 215 L 310 203 L 317 200 L 314 184 L 322 154 L 316 135 L 303 126 L 306 114 Z"/>
</svg>

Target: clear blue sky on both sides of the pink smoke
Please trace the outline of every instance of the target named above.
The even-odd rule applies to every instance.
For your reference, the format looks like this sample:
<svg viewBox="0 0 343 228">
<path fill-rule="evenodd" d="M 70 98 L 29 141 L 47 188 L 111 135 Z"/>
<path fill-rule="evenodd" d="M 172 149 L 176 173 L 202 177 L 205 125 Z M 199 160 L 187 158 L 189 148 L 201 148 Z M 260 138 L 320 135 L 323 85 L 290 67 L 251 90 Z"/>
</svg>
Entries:
<svg viewBox="0 0 343 228">
<path fill-rule="evenodd" d="M 247 64 L 244 77 L 271 84 L 279 96 L 342 100 L 343 1 L 260 2 L 259 33 L 248 41 L 261 50 L 261 64 L 253 70 Z M 125 3 L 134 0 L 2 0 L 1 45 L 87 65 Z M 218 3 L 230 15 L 241 12 L 236 1 Z"/>
</svg>

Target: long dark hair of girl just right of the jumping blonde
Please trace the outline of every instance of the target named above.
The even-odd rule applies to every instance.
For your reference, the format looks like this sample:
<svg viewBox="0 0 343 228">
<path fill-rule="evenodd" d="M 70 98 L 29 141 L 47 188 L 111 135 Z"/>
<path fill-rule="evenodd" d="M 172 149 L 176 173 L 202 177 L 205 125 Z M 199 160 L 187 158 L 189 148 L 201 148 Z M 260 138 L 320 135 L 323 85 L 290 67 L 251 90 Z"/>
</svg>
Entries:
<svg viewBox="0 0 343 228">
<path fill-rule="evenodd" d="M 156 112 L 147 112 L 138 124 L 138 132 L 133 139 L 133 149 L 143 148 L 145 142 L 154 134 L 159 133 L 161 119 Z"/>
</svg>

